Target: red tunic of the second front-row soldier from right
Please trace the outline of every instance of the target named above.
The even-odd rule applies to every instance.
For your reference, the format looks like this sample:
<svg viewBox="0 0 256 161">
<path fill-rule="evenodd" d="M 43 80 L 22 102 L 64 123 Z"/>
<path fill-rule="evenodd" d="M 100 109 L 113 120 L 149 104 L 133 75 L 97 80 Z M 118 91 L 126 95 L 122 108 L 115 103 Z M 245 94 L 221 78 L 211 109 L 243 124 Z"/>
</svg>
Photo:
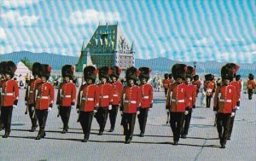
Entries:
<svg viewBox="0 0 256 161">
<path fill-rule="evenodd" d="M 189 97 L 187 95 L 188 86 L 185 83 L 172 84 L 166 98 L 166 105 L 171 102 L 171 112 L 185 112 L 185 108 L 189 106 Z"/>
</svg>

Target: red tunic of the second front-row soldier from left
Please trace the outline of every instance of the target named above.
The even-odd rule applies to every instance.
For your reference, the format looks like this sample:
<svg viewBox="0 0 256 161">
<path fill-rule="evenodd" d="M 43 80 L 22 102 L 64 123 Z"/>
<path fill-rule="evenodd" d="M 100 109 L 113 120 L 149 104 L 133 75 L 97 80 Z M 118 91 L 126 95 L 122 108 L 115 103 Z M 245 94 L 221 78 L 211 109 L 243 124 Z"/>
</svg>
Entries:
<svg viewBox="0 0 256 161">
<path fill-rule="evenodd" d="M 35 108 L 38 110 L 47 110 L 49 108 L 49 104 L 53 104 L 55 90 L 51 83 L 38 83 L 36 86 L 36 106 Z"/>
</svg>

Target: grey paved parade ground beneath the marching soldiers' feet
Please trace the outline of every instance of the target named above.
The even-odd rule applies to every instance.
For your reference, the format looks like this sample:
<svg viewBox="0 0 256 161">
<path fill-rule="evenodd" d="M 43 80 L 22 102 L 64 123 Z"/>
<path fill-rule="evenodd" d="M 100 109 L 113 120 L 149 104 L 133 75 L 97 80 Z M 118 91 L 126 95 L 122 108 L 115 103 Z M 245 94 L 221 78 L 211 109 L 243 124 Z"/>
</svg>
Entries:
<svg viewBox="0 0 256 161">
<path fill-rule="evenodd" d="M 172 145 L 172 130 L 166 124 L 164 92 L 154 92 L 154 107 L 148 113 L 145 136 L 139 137 L 136 122 L 131 144 L 125 144 L 123 128 L 118 113 L 116 128 L 109 133 L 108 124 L 103 135 L 98 134 L 98 124 L 93 119 L 90 140 L 84 138 L 77 123 L 76 110 L 71 112 L 67 134 L 61 134 L 61 118 L 57 118 L 57 107 L 49 112 L 46 137 L 34 140 L 38 135 L 29 132 L 31 123 L 25 115 L 25 90 L 20 89 L 20 101 L 13 111 L 9 138 L 0 137 L 0 160 L 207 160 L 207 161 L 253 161 L 256 160 L 256 96 L 249 101 L 241 95 L 241 109 L 236 112 L 231 140 L 226 148 L 219 148 L 217 128 L 213 126 L 214 114 L 211 108 L 198 106 L 192 113 L 187 139 L 180 139 L 178 146 Z M 56 91 L 55 91 L 56 94 Z M 201 95 L 197 101 L 201 100 Z M 4 130 L 0 131 L 4 135 Z"/>
</svg>

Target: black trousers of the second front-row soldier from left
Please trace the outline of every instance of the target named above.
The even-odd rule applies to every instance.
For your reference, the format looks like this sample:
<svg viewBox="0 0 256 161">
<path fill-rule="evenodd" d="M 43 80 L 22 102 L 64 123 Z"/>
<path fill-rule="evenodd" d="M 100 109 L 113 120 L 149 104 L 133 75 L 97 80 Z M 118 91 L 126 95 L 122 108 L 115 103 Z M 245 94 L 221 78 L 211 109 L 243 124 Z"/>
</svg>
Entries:
<svg viewBox="0 0 256 161">
<path fill-rule="evenodd" d="M 38 110 L 36 109 L 36 115 L 38 118 L 38 124 L 39 124 L 39 131 L 38 135 L 44 136 L 45 135 L 45 124 L 47 121 L 47 116 L 48 116 L 48 110 Z"/>
</svg>

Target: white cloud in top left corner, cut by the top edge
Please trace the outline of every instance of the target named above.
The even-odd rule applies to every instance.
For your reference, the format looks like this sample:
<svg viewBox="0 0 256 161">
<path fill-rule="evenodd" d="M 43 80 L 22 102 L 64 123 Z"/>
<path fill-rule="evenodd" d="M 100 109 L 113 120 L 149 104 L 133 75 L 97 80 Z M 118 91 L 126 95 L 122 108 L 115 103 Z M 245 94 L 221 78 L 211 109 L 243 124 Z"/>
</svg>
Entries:
<svg viewBox="0 0 256 161">
<path fill-rule="evenodd" d="M 25 8 L 28 5 L 32 5 L 34 3 L 38 3 L 39 0 L 11 0 L 11 1 L 3 1 L 2 6 L 6 8 Z"/>
</svg>

